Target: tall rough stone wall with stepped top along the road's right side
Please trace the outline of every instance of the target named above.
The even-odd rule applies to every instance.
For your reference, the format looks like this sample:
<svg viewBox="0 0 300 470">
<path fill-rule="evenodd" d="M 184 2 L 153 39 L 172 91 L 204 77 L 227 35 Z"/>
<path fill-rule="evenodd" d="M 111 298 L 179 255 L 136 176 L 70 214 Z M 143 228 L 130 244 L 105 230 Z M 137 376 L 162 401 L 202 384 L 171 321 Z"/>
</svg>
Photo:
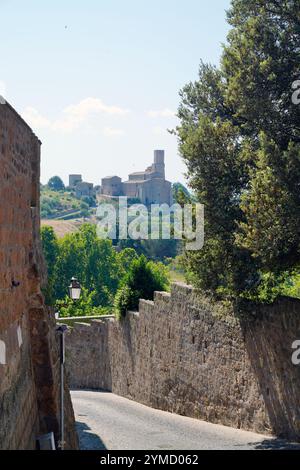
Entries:
<svg viewBox="0 0 300 470">
<path fill-rule="evenodd" d="M 260 433 L 300 439 L 300 302 L 249 306 L 246 319 L 175 284 L 121 322 L 75 324 L 67 335 L 71 386 Z M 240 317 L 239 317 L 240 318 Z"/>
</svg>

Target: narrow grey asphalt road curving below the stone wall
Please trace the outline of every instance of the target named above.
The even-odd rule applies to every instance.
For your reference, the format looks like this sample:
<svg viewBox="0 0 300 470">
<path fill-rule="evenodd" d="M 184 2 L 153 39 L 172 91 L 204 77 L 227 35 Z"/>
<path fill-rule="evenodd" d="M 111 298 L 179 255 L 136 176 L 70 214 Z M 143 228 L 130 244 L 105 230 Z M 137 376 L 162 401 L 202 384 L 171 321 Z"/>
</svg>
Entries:
<svg viewBox="0 0 300 470">
<path fill-rule="evenodd" d="M 280 439 L 154 410 L 112 393 L 73 391 L 80 448 L 87 450 L 293 449 Z"/>
</svg>

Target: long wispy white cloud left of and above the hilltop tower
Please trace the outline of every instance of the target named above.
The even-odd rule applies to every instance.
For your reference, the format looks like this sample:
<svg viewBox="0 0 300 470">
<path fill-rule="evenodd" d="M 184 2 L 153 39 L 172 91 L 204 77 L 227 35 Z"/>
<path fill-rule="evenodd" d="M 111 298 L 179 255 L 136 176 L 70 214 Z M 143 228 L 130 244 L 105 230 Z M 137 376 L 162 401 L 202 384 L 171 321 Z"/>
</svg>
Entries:
<svg viewBox="0 0 300 470">
<path fill-rule="evenodd" d="M 24 119 L 36 129 L 48 128 L 54 131 L 73 132 L 81 124 L 95 114 L 109 114 L 111 116 L 124 116 L 130 111 L 118 106 L 108 106 L 99 98 L 85 98 L 75 105 L 62 110 L 62 116 L 51 121 L 32 107 L 27 107 L 22 113 Z"/>
</svg>

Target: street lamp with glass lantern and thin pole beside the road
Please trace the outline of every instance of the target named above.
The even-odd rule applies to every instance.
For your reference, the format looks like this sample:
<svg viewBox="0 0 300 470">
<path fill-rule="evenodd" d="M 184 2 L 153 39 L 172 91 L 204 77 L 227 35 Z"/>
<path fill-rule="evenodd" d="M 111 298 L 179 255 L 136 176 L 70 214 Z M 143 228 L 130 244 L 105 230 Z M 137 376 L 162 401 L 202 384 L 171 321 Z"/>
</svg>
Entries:
<svg viewBox="0 0 300 470">
<path fill-rule="evenodd" d="M 79 300 L 81 294 L 81 285 L 76 277 L 72 277 L 71 284 L 69 285 L 69 296 L 72 300 Z M 67 325 L 60 325 L 57 331 L 60 334 L 60 440 L 59 448 L 64 450 L 65 445 L 65 410 L 64 410 L 64 364 L 65 364 L 65 332 Z"/>
</svg>

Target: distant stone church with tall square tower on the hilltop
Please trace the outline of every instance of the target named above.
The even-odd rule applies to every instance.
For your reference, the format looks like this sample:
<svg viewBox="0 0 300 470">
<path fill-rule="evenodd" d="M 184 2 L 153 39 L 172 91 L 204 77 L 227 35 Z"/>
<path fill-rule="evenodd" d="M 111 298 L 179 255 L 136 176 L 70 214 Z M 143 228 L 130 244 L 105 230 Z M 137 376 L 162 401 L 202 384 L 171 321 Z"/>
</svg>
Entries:
<svg viewBox="0 0 300 470">
<path fill-rule="evenodd" d="M 165 152 L 154 151 L 154 162 L 145 171 L 131 173 L 128 181 L 119 176 L 107 176 L 101 181 L 101 194 L 127 196 L 143 204 L 172 204 L 172 184 L 165 179 Z"/>
</svg>

